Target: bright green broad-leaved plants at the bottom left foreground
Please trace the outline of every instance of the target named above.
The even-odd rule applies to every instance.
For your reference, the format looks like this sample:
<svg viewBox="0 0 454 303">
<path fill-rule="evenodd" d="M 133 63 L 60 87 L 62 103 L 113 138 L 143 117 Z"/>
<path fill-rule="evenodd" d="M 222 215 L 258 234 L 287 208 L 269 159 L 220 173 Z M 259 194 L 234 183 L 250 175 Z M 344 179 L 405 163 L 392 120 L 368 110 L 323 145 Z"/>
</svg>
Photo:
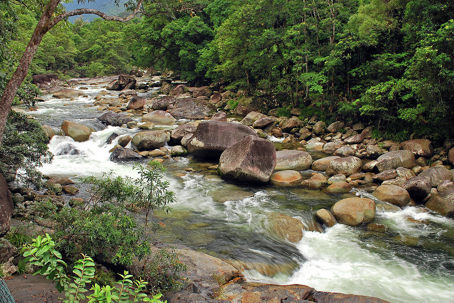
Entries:
<svg viewBox="0 0 454 303">
<path fill-rule="evenodd" d="M 48 234 L 38 236 L 24 247 L 25 262 L 38 267 L 34 274 L 41 274 L 55 282 L 56 288 L 65 293 L 65 303 L 79 301 L 88 302 L 155 302 L 162 303 L 159 298 L 161 293 L 148 297 L 142 291 L 147 282 L 140 280 L 131 280 L 133 277 L 127 271 L 120 274 L 121 279 L 115 285 L 100 286 L 97 283 L 92 285 L 90 290 L 93 293 L 85 295 L 88 292 L 88 286 L 95 275 L 95 263 L 89 256 L 82 254 L 82 259 L 75 262 L 73 266 L 73 275 L 66 273 L 68 265 L 62 260 L 62 254 L 55 250 L 55 242 L 52 241 Z"/>
</svg>

